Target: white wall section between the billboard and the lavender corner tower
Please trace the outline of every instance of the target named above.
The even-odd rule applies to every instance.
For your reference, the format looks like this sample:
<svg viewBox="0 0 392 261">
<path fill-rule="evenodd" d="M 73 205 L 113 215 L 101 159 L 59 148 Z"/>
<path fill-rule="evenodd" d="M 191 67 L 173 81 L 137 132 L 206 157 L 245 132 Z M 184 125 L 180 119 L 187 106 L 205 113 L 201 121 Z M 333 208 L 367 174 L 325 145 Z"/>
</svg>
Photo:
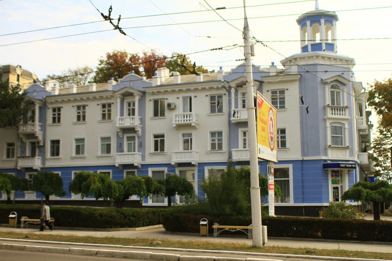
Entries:
<svg viewBox="0 0 392 261">
<path fill-rule="evenodd" d="M 267 79 L 263 83 L 263 94 L 265 98 L 271 101 L 271 91 L 285 90 L 285 104 L 286 109 L 278 109 L 276 115 L 277 129 L 286 128 L 287 149 L 278 149 L 278 160 L 283 159 L 298 159 L 301 158 L 301 135 L 299 125 L 299 111 L 305 110 L 299 107 L 299 81 L 298 79 L 285 80 L 285 76 L 279 79 L 280 76 L 274 76 L 270 82 Z M 276 79 L 275 79 L 276 78 Z M 277 82 L 275 82 L 278 80 Z M 295 105 L 295 106 L 288 106 Z"/>
</svg>

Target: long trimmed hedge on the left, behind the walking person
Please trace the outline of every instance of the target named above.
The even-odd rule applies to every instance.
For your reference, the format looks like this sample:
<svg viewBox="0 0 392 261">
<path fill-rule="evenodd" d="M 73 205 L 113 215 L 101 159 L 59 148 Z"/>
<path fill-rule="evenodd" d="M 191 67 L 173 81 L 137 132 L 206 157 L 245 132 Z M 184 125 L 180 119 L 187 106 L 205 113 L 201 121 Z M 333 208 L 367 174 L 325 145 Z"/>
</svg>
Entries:
<svg viewBox="0 0 392 261">
<path fill-rule="evenodd" d="M 9 213 L 15 211 L 20 218 L 40 218 L 41 206 L 0 204 L 0 223 L 8 223 Z M 50 214 L 60 227 L 128 228 L 162 224 L 163 209 L 148 208 L 90 208 L 50 206 Z"/>
</svg>

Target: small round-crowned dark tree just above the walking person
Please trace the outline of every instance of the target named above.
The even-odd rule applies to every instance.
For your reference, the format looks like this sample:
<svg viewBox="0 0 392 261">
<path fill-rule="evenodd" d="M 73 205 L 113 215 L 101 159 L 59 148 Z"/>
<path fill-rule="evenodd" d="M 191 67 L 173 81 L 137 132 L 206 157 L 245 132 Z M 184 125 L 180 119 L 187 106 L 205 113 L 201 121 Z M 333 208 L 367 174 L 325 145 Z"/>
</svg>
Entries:
<svg viewBox="0 0 392 261">
<path fill-rule="evenodd" d="M 33 175 L 31 189 L 35 192 L 41 192 L 46 201 L 49 201 L 51 195 L 61 197 L 67 194 L 63 189 L 63 179 L 58 173 L 51 171 L 42 171 Z"/>
</svg>

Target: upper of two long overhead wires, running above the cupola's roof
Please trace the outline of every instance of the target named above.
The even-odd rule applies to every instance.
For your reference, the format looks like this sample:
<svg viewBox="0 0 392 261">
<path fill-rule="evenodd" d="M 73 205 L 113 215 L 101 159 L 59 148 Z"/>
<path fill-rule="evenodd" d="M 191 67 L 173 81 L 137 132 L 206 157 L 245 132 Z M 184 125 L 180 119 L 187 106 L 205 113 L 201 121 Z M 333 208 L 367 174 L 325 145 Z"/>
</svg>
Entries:
<svg viewBox="0 0 392 261">
<path fill-rule="evenodd" d="M 281 3 L 261 4 L 261 5 L 248 5 L 246 7 L 250 8 L 250 7 L 259 7 L 259 6 L 265 6 L 265 5 L 295 4 L 295 3 L 311 2 L 311 1 L 313 1 L 313 0 L 301 0 L 301 1 L 281 2 Z M 91 3 L 91 4 L 93 4 L 93 3 Z M 95 7 L 94 4 L 93 4 L 93 6 Z M 243 8 L 243 6 L 226 7 L 225 9 L 228 10 L 228 9 L 236 9 L 236 8 Z M 97 8 L 95 7 L 95 9 L 97 9 Z M 196 11 L 184 11 L 184 12 L 168 13 L 166 15 L 198 13 L 198 12 L 205 12 L 205 11 L 214 11 L 214 10 L 207 9 L 207 10 L 196 10 Z M 132 17 L 124 17 L 124 18 L 122 18 L 122 20 L 134 19 L 134 18 L 146 18 L 146 17 L 154 17 L 154 16 L 163 16 L 163 15 L 165 15 L 165 14 L 150 14 L 150 15 L 142 15 L 142 16 L 132 16 Z M 58 29 L 58 28 L 76 26 L 76 25 L 93 24 L 93 23 L 99 23 L 99 22 L 104 22 L 104 21 L 103 20 L 99 20 L 99 21 L 85 22 L 85 23 L 80 23 L 80 24 L 60 25 L 60 26 L 55 26 L 55 27 L 48 27 L 48 28 L 42 28 L 42 29 L 36 29 L 36 30 L 30 30 L 30 31 L 22 31 L 22 32 L 17 32 L 17 33 L 0 34 L 0 36 L 7 36 L 7 35 L 13 35 L 13 34 L 23 34 L 23 33 L 32 33 L 32 32 L 37 32 L 37 31 Z M 200 36 L 200 37 L 202 37 L 202 36 Z"/>
</svg>

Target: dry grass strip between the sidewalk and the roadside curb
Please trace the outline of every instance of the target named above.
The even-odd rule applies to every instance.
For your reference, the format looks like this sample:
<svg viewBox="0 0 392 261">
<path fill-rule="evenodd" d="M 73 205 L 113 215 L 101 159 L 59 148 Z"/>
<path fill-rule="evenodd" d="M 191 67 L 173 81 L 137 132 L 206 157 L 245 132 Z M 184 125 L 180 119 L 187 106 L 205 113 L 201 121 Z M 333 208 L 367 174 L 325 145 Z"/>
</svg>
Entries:
<svg viewBox="0 0 392 261">
<path fill-rule="evenodd" d="M 171 247 L 171 248 L 190 248 L 204 250 L 228 250 L 243 251 L 257 253 L 274 253 L 274 254 L 294 254 L 294 255 L 310 255 L 310 256 L 332 256 L 332 257 L 356 257 L 367 259 L 392 259 L 392 253 L 377 253 L 363 251 L 348 251 L 334 249 L 317 249 L 317 248 L 291 248 L 285 246 L 265 246 L 256 248 L 250 245 L 240 243 L 213 243 L 206 241 L 178 241 L 160 239 L 162 243 L 158 245 L 152 244 L 152 239 L 132 239 L 118 237 L 92 237 L 92 236 L 70 236 L 70 235 L 37 235 L 33 233 L 16 233 L 16 232 L 0 232 L 0 237 L 13 239 L 29 239 L 29 240 L 46 240 L 46 241 L 62 241 L 73 243 L 91 243 L 91 244 L 107 244 L 107 245 L 123 245 L 123 246 L 150 246 L 150 247 Z M 314 250 L 312 254 L 308 254 L 306 250 Z"/>
</svg>

